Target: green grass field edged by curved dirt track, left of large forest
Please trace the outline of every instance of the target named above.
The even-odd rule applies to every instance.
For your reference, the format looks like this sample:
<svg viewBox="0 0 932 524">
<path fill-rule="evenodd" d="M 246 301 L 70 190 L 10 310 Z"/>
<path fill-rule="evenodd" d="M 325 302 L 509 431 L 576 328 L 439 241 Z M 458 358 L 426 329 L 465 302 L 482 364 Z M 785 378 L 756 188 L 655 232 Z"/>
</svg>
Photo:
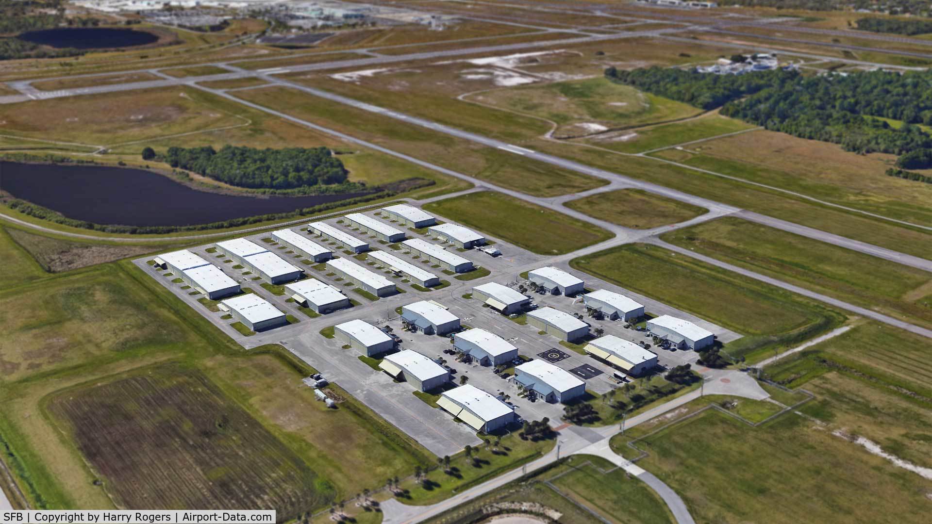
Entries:
<svg viewBox="0 0 932 524">
<path fill-rule="evenodd" d="M 484 91 L 472 95 L 470 100 L 551 120 L 557 124 L 556 138 L 632 128 L 700 113 L 692 105 L 614 84 L 605 78 Z"/>
</svg>

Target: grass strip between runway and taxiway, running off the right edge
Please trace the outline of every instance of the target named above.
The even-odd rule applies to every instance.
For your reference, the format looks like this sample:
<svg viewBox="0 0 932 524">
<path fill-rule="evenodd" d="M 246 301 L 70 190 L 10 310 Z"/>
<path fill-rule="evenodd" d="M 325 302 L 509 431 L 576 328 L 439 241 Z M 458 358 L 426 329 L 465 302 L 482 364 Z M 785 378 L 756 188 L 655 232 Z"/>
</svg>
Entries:
<svg viewBox="0 0 932 524">
<path fill-rule="evenodd" d="M 932 325 L 932 275 L 921 269 L 732 217 L 662 238 L 784 282 Z"/>
</svg>

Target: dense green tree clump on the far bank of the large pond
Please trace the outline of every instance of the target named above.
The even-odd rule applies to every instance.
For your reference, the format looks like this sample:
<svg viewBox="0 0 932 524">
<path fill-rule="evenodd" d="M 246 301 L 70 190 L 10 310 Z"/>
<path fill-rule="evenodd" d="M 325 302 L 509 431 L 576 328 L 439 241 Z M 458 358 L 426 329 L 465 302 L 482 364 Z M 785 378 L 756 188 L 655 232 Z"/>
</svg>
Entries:
<svg viewBox="0 0 932 524">
<path fill-rule="evenodd" d="M 162 155 L 150 147 L 143 159 L 158 159 L 172 168 L 197 172 L 230 186 L 257 189 L 291 189 L 307 186 L 332 186 L 347 181 L 349 172 L 343 162 L 326 147 L 285 147 L 258 149 L 224 145 L 172 146 Z"/>
</svg>

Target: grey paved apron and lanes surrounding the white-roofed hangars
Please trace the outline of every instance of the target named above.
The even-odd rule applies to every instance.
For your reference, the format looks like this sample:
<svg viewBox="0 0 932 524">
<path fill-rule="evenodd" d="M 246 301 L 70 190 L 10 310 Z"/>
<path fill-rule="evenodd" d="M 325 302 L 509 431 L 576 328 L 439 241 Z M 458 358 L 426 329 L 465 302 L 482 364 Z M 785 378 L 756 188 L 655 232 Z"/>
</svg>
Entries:
<svg viewBox="0 0 932 524">
<path fill-rule="evenodd" d="M 373 212 L 368 213 L 374 218 L 379 218 Z M 335 338 L 324 338 L 320 330 L 327 326 L 342 324 L 349 320 L 360 319 L 370 324 L 378 326 L 391 326 L 395 335 L 402 338 L 400 349 L 411 349 L 431 358 L 445 358 L 446 365 L 453 370 L 453 380 L 459 384 L 459 377 L 468 377 L 469 383 L 481 388 L 488 393 L 508 395 L 504 397 L 514 405 L 517 414 L 525 420 L 540 420 L 543 417 L 549 418 L 554 425 L 560 423 L 560 417 L 563 407 L 558 404 L 547 404 L 541 400 L 531 402 L 527 398 L 519 396 L 517 386 L 513 379 L 502 379 L 493 372 L 492 367 L 473 364 L 466 365 L 455 361 L 455 358 L 444 353 L 445 350 L 452 348 L 451 340 L 444 337 L 427 336 L 421 333 L 410 333 L 404 331 L 401 319 L 396 308 L 417 302 L 418 300 L 434 300 L 443 304 L 450 312 L 460 318 L 461 324 L 470 327 L 482 327 L 488 331 L 505 338 L 518 347 L 519 354 L 522 356 L 538 359 L 546 358 L 580 379 L 585 380 L 586 389 L 595 393 L 607 393 L 612 388 L 620 385 L 618 379 L 613 377 L 615 369 L 610 365 L 598 361 L 588 355 L 580 354 L 576 350 L 559 344 L 559 340 L 550 335 L 541 335 L 538 328 L 529 324 L 518 324 L 507 316 L 500 314 L 496 310 L 484 307 L 481 300 L 468 298 L 473 286 L 496 282 L 516 287 L 518 283 L 524 282 L 519 274 L 528 269 L 535 269 L 546 265 L 556 265 L 562 269 L 569 270 L 576 274 L 586 283 L 587 289 L 609 289 L 644 304 L 647 311 L 653 314 L 674 314 L 681 318 L 692 320 L 702 325 L 706 329 L 717 334 L 722 342 L 727 342 L 738 335 L 726 329 L 709 324 L 700 319 L 696 319 L 688 313 L 675 310 L 658 303 L 652 299 L 638 296 L 616 285 L 603 283 L 593 277 L 569 269 L 559 259 L 551 259 L 542 255 L 535 255 L 526 250 L 515 247 L 514 245 L 490 239 L 495 242 L 495 247 L 499 248 L 501 255 L 492 257 L 478 250 L 458 250 L 449 244 L 446 244 L 447 250 L 457 253 L 473 262 L 476 267 L 488 269 L 490 273 L 487 276 L 475 278 L 473 280 L 461 281 L 451 275 L 443 272 L 439 267 L 433 267 L 433 264 L 425 264 L 423 261 L 415 258 L 415 255 L 407 253 L 404 249 L 393 249 L 392 245 L 399 247 L 398 244 L 388 244 L 387 242 L 378 241 L 374 236 L 366 235 L 358 230 L 348 228 L 346 221 L 340 223 L 339 217 L 327 220 L 328 224 L 341 230 L 370 242 L 373 250 L 382 250 L 391 255 L 402 257 L 404 260 L 418 265 L 425 270 L 431 271 L 438 275 L 442 281 L 449 283 L 441 289 L 435 289 L 430 292 L 418 291 L 412 286 L 412 283 L 404 282 L 404 276 L 398 276 L 386 269 L 378 269 L 377 264 L 372 259 L 366 259 L 363 255 L 352 255 L 344 252 L 338 246 L 322 240 L 320 237 L 311 235 L 310 240 L 316 241 L 333 249 L 335 256 L 347 257 L 354 263 L 363 266 L 365 269 L 377 271 L 378 274 L 391 279 L 398 288 L 404 293 L 393 296 L 384 296 L 376 301 L 370 301 L 364 296 L 354 293 L 355 285 L 348 284 L 338 280 L 331 271 L 306 260 L 301 255 L 289 253 L 291 250 L 281 245 L 263 241 L 268 238 L 267 233 L 249 235 L 244 238 L 254 241 L 255 243 L 267 247 L 273 253 L 285 258 L 293 265 L 305 269 L 306 278 L 315 278 L 322 282 L 334 285 L 349 296 L 354 304 L 345 310 L 337 310 L 316 318 L 311 318 L 295 304 L 289 302 L 287 294 L 277 295 L 263 287 L 261 284 L 265 281 L 256 277 L 254 274 L 246 274 L 248 269 L 233 269 L 235 263 L 226 262 L 230 260 L 222 255 L 221 251 L 213 253 L 208 252 L 212 249 L 213 244 L 205 244 L 190 249 L 191 252 L 203 257 L 205 260 L 212 262 L 222 269 L 226 275 L 240 283 L 242 287 L 247 287 L 255 294 L 262 296 L 275 305 L 281 311 L 293 315 L 299 322 L 296 324 L 284 325 L 273 328 L 268 331 L 259 332 L 252 336 L 240 334 L 235 328 L 231 327 L 232 320 L 222 319 L 225 314 L 223 311 L 212 311 L 204 304 L 199 302 L 203 296 L 191 294 L 193 290 L 182 289 L 184 283 L 172 283 L 172 279 L 177 275 L 165 277 L 160 271 L 153 269 L 147 264 L 151 257 L 139 258 L 134 263 L 147 273 L 157 279 L 171 292 L 187 303 L 192 310 L 209 319 L 212 324 L 223 330 L 227 335 L 234 338 L 240 344 L 249 349 L 269 343 L 281 344 L 291 352 L 308 362 L 309 365 L 320 371 L 326 379 L 336 382 L 340 387 L 349 394 L 360 399 L 368 407 L 375 410 L 379 415 L 390 421 L 400 428 L 406 434 L 416 438 L 418 442 L 430 449 L 439 456 L 453 454 L 466 445 L 475 445 L 480 442 L 472 429 L 465 424 L 459 424 L 452 420 L 449 415 L 441 410 L 436 409 L 421 401 L 417 396 L 412 394 L 413 389 L 405 383 L 395 383 L 391 377 L 384 373 L 377 372 L 369 365 L 364 364 L 358 357 L 360 353 L 353 349 L 343 349 L 342 344 Z M 430 236 L 422 234 L 415 230 L 408 230 L 404 227 L 392 224 L 396 228 L 402 228 L 408 233 L 408 238 L 420 238 L 425 241 L 440 243 Z M 303 235 L 308 233 L 306 227 L 292 228 Z M 466 273 L 468 275 L 469 273 Z M 274 289 L 274 288 L 273 288 Z M 197 293 L 197 292 L 194 292 Z M 582 300 L 568 296 L 552 296 L 530 294 L 532 301 L 539 307 L 551 306 L 558 310 L 569 313 L 583 314 L 583 320 L 591 325 L 590 331 L 596 328 L 604 330 L 606 335 L 615 335 L 628 340 L 639 342 L 646 341 L 651 343 L 650 338 L 645 338 L 643 333 L 633 329 L 624 329 L 623 321 L 595 320 L 594 318 L 584 316 L 585 308 Z M 664 351 L 659 348 L 651 348 L 658 354 L 659 362 L 664 366 L 674 366 L 683 363 L 692 363 L 696 359 L 694 352 L 683 351 Z M 553 358 L 551 358 L 553 356 Z"/>
</svg>

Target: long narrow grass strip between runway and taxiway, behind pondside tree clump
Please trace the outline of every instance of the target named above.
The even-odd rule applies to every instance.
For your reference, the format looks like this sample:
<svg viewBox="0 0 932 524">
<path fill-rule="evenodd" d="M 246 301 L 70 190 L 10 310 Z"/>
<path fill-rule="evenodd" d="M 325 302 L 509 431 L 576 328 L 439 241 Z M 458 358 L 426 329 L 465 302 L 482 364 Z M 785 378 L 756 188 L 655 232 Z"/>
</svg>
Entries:
<svg viewBox="0 0 932 524">
<path fill-rule="evenodd" d="M 260 88 L 241 91 L 237 96 L 531 195 L 563 195 L 606 184 L 604 180 L 560 170 L 543 162 L 475 145 L 389 117 L 378 117 L 347 105 L 323 103 L 297 90 Z"/>
</svg>

